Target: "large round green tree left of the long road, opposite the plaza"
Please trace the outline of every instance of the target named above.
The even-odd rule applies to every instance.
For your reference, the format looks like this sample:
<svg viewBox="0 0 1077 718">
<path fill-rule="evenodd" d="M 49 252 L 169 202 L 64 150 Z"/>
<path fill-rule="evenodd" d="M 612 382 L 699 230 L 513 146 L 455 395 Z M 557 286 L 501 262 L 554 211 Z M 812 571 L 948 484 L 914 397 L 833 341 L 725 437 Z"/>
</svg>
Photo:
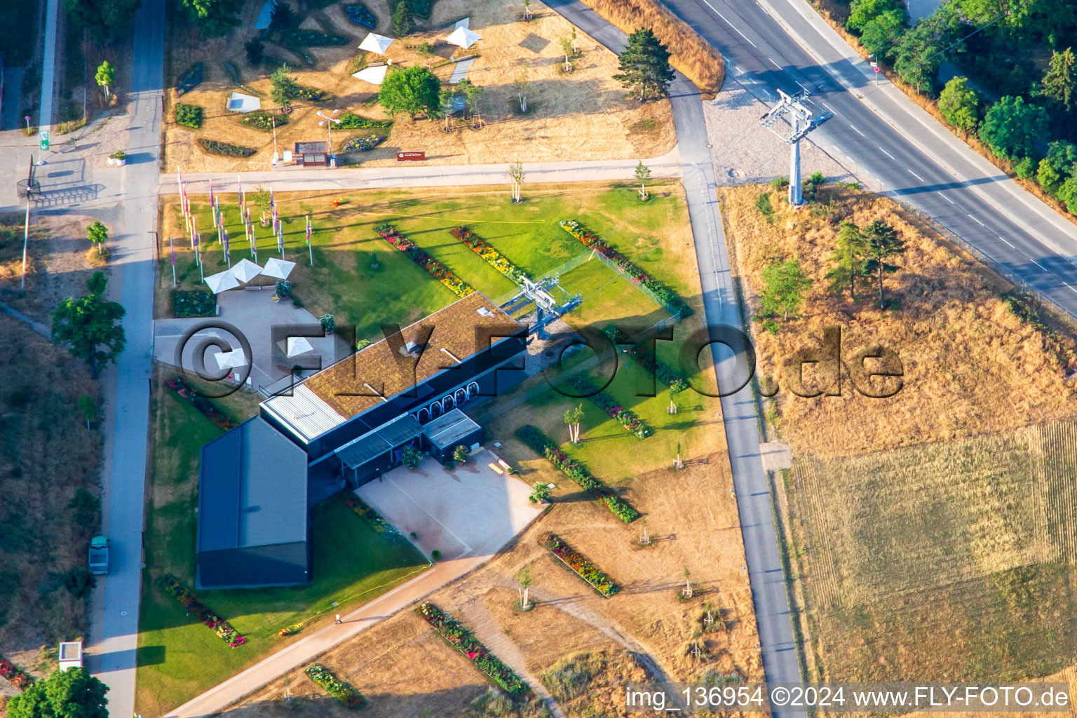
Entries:
<svg viewBox="0 0 1077 718">
<path fill-rule="evenodd" d="M 115 301 L 101 298 L 107 283 L 103 273 L 94 272 L 86 282 L 88 295 L 68 297 L 53 311 L 53 341 L 67 344 L 72 356 L 86 362 L 95 379 L 98 366 L 115 362 L 127 342 L 124 327 L 118 324 L 126 311 Z"/>
</svg>

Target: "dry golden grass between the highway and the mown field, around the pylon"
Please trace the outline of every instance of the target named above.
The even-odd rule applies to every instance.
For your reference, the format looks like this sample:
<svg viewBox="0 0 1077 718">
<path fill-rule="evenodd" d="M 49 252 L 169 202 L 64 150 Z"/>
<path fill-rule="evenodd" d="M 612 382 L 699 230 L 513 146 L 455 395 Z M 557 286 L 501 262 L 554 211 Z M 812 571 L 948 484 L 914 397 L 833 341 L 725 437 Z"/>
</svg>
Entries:
<svg viewBox="0 0 1077 718">
<path fill-rule="evenodd" d="M 1018 319 L 1001 298 L 1010 288 L 998 276 L 925 227 L 890 199 L 825 187 L 821 203 L 793 210 L 772 195 L 778 213 L 769 223 L 755 200 L 769 187 L 723 191 L 728 237 L 750 287 L 774 259 L 798 257 L 814 279 L 802 318 L 782 323 L 777 335 L 757 332 L 757 376 L 779 380 L 778 427 L 798 455 L 848 455 L 924 441 L 994 433 L 1068 417 L 1074 412 L 1073 341 L 1048 335 Z M 827 292 L 838 227 L 881 219 L 908 244 L 900 270 L 884 285 L 899 309 L 880 311 L 872 286 L 862 301 Z M 757 290 L 756 290 L 757 291 Z M 801 398 L 789 392 L 788 366 L 801 347 L 821 347 L 823 327 L 841 327 L 841 396 Z M 756 325 L 758 326 L 758 325 Z M 853 390 L 848 363 L 865 347 L 882 344 L 904 365 L 895 396 L 869 398 Z M 806 378 L 813 369 L 806 369 Z M 806 382 L 812 385 L 812 381 Z"/>
</svg>

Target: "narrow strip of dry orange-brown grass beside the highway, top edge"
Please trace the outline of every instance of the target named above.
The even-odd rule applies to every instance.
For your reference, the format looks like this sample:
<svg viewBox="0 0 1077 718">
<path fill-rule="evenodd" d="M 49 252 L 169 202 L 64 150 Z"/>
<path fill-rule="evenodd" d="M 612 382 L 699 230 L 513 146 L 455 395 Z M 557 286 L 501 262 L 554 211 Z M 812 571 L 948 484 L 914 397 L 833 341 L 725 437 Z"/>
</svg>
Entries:
<svg viewBox="0 0 1077 718">
<path fill-rule="evenodd" d="M 632 32 L 651 28 L 669 47 L 670 62 L 713 99 L 722 89 L 726 65 L 722 53 L 699 37 L 687 23 L 667 10 L 658 0 L 583 0 L 599 15 L 620 28 Z"/>
</svg>

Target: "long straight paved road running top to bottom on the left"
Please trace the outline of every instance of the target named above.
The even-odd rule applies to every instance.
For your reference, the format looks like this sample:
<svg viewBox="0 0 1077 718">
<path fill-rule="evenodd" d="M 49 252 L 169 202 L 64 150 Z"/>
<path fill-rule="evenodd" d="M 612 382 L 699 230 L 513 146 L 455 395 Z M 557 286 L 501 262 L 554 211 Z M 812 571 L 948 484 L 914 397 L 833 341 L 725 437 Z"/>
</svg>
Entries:
<svg viewBox="0 0 1077 718">
<path fill-rule="evenodd" d="M 106 465 L 102 523 L 112 571 L 94 597 L 90 671 L 109 685 L 109 712 L 135 710 L 135 666 L 142 567 L 142 513 L 153 343 L 157 155 L 164 85 L 165 1 L 143 0 L 135 17 L 127 157 L 118 174 L 122 234 L 113 247 L 113 295 L 127 309 L 127 347 L 104 376 Z M 103 595 L 102 595 L 103 593 Z M 103 599 L 103 600 L 102 600 Z"/>
</svg>

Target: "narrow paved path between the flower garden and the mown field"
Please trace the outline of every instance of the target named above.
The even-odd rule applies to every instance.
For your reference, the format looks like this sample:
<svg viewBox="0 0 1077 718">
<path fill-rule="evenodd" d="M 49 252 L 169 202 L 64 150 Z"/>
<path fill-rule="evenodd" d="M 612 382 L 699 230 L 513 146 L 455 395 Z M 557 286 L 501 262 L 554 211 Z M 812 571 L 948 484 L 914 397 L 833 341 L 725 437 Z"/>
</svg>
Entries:
<svg viewBox="0 0 1077 718">
<path fill-rule="evenodd" d="M 624 47 L 625 34 L 578 0 L 545 2 L 614 52 Z M 717 206 L 717 185 L 714 166 L 710 161 L 699 91 L 677 73 L 670 88 L 670 99 L 677 146 L 684 158 L 683 183 L 696 240 L 707 319 L 711 326 L 739 327 L 737 294 Z M 739 363 L 742 362 L 739 357 L 744 355 L 743 346 L 736 341 L 731 343 L 735 344 L 732 351 L 718 344 L 712 347 L 718 385 L 723 388 L 735 385 Z M 778 549 L 770 487 L 759 457 L 759 431 L 751 389 L 745 386 L 736 394 L 723 397 L 722 416 L 740 511 L 744 555 L 752 582 L 764 671 L 768 680 L 796 681 L 800 679 L 800 668 L 789 622 L 789 603 Z M 774 715 L 794 714 L 774 712 Z"/>
</svg>

